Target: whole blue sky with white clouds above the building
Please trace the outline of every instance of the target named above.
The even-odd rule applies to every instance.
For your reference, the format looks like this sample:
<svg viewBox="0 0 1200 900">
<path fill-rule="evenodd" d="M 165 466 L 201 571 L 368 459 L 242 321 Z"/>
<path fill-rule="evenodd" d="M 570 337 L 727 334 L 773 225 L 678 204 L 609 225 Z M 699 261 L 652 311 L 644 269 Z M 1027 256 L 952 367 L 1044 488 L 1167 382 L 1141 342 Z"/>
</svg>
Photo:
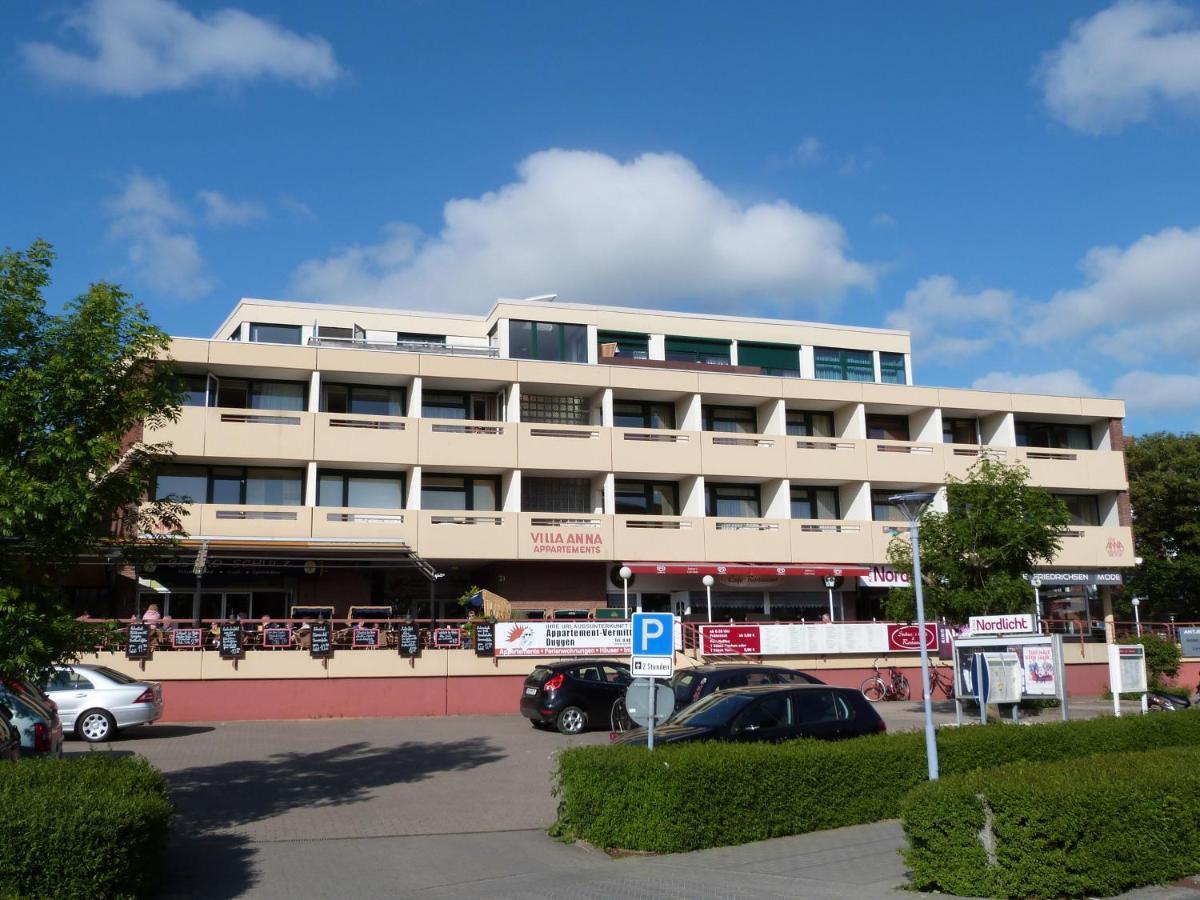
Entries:
<svg viewBox="0 0 1200 900">
<path fill-rule="evenodd" d="M 908 328 L 1200 431 L 1200 4 L 17 0 L 0 242 L 240 296 Z"/>
</svg>

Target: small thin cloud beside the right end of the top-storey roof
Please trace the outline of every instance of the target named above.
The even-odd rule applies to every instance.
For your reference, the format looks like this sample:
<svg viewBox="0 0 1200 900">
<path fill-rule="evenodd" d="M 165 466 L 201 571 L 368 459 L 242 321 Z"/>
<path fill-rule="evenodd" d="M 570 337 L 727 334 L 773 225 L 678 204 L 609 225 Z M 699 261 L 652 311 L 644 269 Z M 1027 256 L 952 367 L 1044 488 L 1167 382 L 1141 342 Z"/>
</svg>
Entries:
<svg viewBox="0 0 1200 900">
<path fill-rule="evenodd" d="M 971 294 L 949 275 L 934 275 L 905 293 L 904 306 L 888 313 L 887 324 L 911 331 L 923 359 L 961 359 L 1012 336 L 1018 306 L 1008 290 Z"/>
</svg>

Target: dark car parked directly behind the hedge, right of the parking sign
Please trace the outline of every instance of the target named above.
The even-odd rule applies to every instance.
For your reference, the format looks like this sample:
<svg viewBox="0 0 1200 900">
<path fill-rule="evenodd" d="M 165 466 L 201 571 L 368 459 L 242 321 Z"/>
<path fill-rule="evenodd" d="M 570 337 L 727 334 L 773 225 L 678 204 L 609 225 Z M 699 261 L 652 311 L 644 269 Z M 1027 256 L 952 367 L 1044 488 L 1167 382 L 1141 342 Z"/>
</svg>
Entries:
<svg viewBox="0 0 1200 900">
<path fill-rule="evenodd" d="M 880 714 L 854 688 L 761 685 L 710 694 L 656 727 L 654 740 L 839 740 L 883 731 Z M 644 744 L 646 728 L 628 731 L 614 743 Z"/>
</svg>

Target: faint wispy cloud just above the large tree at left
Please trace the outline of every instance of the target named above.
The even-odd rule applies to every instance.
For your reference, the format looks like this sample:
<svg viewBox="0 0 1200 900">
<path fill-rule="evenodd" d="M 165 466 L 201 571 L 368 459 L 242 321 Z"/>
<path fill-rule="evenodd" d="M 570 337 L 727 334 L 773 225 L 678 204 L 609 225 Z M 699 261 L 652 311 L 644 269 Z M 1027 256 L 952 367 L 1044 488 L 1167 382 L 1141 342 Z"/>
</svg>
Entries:
<svg viewBox="0 0 1200 900">
<path fill-rule="evenodd" d="M 166 181 L 134 172 L 103 205 L 113 220 L 109 238 L 126 246 L 134 278 L 181 300 L 212 290 L 199 244 L 186 230 L 191 217 L 172 199 Z"/>
</svg>

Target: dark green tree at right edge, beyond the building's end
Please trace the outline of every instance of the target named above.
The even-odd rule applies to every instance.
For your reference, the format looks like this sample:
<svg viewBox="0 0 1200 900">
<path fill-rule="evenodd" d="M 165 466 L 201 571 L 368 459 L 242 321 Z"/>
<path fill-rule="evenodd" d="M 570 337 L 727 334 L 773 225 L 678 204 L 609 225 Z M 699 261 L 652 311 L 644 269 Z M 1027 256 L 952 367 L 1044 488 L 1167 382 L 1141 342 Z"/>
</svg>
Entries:
<svg viewBox="0 0 1200 900">
<path fill-rule="evenodd" d="M 1129 590 L 1146 598 L 1144 616 L 1200 618 L 1200 434 L 1134 438 L 1126 466 L 1142 558 Z"/>
</svg>

